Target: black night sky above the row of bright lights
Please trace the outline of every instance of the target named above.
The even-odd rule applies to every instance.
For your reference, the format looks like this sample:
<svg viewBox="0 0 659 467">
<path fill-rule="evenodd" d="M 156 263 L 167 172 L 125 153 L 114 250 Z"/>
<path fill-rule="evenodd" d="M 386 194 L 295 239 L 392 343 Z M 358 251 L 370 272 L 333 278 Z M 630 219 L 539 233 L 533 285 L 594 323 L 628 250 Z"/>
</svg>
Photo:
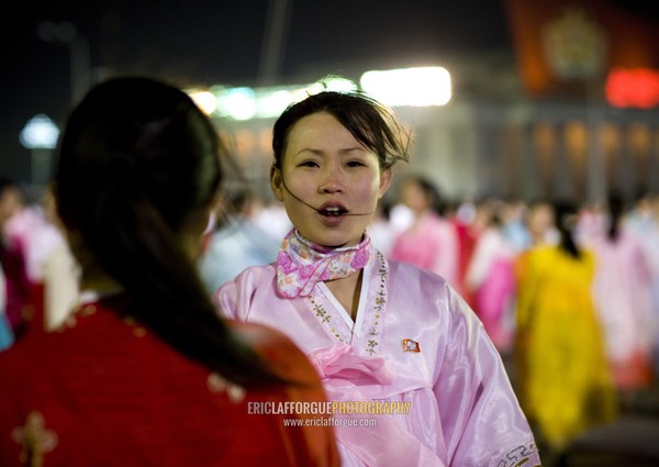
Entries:
<svg viewBox="0 0 659 467">
<path fill-rule="evenodd" d="M 255 86 L 268 0 L 24 1 L 3 14 L 0 175 L 29 176 L 19 133 L 45 113 L 69 110 L 69 49 L 37 36 L 40 23 L 72 23 L 90 47 L 93 77 L 138 74 L 181 86 Z M 14 7 L 12 7 L 14 8 Z M 288 27 L 275 84 L 297 84 L 359 67 L 442 65 L 447 54 L 511 46 L 496 0 L 288 0 Z M 272 76 L 272 73 L 270 74 Z M 358 78 L 358 76 L 349 76 Z"/>
</svg>

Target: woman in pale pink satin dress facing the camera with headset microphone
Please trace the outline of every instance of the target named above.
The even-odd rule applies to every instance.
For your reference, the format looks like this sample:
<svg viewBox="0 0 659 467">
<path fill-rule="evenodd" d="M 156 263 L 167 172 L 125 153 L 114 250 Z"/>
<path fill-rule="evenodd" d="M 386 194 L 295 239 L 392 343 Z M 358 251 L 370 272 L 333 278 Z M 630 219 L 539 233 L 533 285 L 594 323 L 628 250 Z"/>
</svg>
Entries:
<svg viewBox="0 0 659 467">
<path fill-rule="evenodd" d="M 482 324 L 442 277 L 388 260 L 365 233 L 407 145 L 359 92 L 282 113 L 271 188 L 294 227 L 277 262 L 214 294 L 228 316 L 286 332 L 328 398 L 343 465 L 539 465 L 528 423 Z"/>
</svg>

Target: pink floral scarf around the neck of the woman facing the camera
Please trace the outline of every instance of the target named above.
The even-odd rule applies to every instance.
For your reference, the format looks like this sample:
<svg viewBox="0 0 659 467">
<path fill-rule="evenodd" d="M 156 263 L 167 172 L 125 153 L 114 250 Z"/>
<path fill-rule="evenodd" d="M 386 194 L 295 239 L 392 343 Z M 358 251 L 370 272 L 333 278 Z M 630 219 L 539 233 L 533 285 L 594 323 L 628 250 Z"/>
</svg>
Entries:
<svg viewBox="0 0 659 467">
<path fill-rule="evenodd" d="M 340 279 L 364 269 L 372 258 L 365 234 L 359 245 L 330 248 L 302 238 L 291 230 L 277 256 L 277 289 L 282 297 L 308 297 L 317 282 Z"/>
</svg>

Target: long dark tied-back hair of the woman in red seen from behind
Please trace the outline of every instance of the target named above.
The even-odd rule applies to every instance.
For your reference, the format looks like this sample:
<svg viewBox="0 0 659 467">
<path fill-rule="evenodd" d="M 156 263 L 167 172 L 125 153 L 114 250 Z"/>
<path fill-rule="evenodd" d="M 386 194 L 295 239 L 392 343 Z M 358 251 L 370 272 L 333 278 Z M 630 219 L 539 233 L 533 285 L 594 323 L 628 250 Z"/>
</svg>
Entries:
<svg viewBox="0 0 659 467">
<path fill-rule="evenodd" d="M 236 382 L 277 382 L 217 318 L 182 246 L 219 190 L 217 152 L 215 129 L 185 92 L 144 78 L 105 81 L 67 122 L 58 212 L 164 341 Z"/>
</svg>

